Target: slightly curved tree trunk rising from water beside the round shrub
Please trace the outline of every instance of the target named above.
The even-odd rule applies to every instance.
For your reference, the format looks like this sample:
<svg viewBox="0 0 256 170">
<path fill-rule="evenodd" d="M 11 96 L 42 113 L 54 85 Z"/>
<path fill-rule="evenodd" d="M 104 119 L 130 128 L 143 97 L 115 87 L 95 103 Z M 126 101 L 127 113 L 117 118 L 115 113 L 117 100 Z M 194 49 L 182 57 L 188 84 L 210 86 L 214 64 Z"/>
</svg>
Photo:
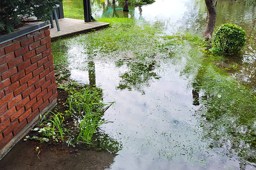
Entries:
<svg viewBox="0 0 256 170">
<path fill-rule="evenodd" d="M 204 1 L 208 11 L 208 20 L 207 20 L 207 26 L 203 32 L 203 38 L 206 40 L 211 40 L 212 32 L 214 30 L 215 21 L 216 21 L 217 10 L 213 0 L 204 0 Z"/>
</svg>

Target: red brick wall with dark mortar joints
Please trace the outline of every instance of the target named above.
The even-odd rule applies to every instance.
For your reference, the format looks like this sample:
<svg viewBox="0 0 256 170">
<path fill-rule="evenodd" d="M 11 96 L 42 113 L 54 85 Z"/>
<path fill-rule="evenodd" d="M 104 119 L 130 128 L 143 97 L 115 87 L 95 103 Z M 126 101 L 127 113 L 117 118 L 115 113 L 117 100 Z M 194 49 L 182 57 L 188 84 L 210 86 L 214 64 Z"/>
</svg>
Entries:
<svg viewBox="0 0 256 170">
<path fill-rule="evenodd" d="M 56 97 L 49 26 L 0 44 L 0 149 Z"/>
</svg>

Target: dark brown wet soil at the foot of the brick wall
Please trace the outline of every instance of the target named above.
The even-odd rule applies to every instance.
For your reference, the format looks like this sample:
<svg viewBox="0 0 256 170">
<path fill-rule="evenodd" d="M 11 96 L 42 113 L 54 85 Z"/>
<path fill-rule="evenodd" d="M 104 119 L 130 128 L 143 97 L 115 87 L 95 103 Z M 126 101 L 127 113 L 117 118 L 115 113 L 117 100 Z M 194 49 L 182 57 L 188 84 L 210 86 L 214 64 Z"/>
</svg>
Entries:
<svg viewBox="0 0 256 170">
<path fill-rule="evenodd" d="M 67 97 L 68 92 L 58 89 L 54 110 L 67 110 L 64 104 Z M 39 149 L 36 150 L 36 147 Z M 0 160 L 0 170 L 104 170 L 112 164 L 115 156 L 95 151 L 95 148 L 86 150 L 83 146 L 68 147 L 66 143 L 48 144 L 22 139 Z"/>
</svg>

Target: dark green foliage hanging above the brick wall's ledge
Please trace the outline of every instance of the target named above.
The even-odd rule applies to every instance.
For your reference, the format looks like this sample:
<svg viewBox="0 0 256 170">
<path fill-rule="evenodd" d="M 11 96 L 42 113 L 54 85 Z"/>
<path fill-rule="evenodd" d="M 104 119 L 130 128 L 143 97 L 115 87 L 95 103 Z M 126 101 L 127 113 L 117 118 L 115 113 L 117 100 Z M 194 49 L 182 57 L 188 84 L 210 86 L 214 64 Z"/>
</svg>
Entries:
<svg viewBox="0 0 256 170">
<path fill-rule="evenodd" d="M 36 17 L 46 21 L 55 4 L 62 0 L 1 0 L 0 31 L 11 33 L 26 18 Z"/>
</svg>

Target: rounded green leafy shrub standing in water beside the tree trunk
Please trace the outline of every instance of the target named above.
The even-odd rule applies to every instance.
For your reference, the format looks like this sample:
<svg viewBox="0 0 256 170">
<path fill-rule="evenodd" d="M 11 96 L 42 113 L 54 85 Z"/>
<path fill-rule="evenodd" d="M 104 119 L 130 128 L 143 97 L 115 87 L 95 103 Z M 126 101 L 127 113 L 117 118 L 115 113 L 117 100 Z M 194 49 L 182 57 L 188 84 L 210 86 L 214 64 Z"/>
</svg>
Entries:
<svg viewBox="0 0 256 170">
<path fill-rule="evenodd" d="M 246 41 L 245 31 L 234 24 L 221 24 L 213 35 L 213 52 L 224 54 L 238 53 Z"/>
</svg>

